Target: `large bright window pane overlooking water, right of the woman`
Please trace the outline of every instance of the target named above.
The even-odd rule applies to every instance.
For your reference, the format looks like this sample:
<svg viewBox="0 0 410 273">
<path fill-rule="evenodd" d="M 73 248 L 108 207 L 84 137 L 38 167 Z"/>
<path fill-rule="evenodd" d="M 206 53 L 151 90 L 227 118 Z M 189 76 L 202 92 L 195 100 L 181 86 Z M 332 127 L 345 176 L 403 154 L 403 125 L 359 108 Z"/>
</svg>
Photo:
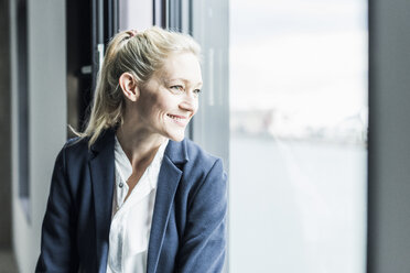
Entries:
<svg viewBox="0 0 410 273">
<path fill-rule="evenodd" d="M 367 2 L 231 0 L 230 272 L 365 272 Z"/>
</svg>

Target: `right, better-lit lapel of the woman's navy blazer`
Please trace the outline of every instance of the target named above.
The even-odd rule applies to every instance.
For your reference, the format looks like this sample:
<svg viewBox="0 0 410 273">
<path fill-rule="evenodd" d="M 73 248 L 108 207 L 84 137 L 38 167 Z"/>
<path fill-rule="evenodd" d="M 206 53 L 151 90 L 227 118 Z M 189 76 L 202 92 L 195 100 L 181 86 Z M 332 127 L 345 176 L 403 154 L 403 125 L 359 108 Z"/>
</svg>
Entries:
<svg viewBox="0 0 410 273">
<path fill-rule="evenodd" d="M 187 160 L 185 141 L 174 142 L 170 140 L 158 177 L 155 205 L 148 248 L 147 273 L 157 272 L 172 203 L 182 176 L 182 171 L 176 165 Z"/>
</svg>

